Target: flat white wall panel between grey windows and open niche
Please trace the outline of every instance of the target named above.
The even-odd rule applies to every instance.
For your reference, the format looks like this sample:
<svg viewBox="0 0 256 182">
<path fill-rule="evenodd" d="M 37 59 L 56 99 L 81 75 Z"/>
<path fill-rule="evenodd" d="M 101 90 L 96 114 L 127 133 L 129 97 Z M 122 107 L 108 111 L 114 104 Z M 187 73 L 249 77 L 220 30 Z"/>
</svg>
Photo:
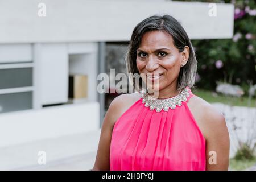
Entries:
<svg viewBox="0 0 256 182">
<path fill-rule="evenodd" d="M 68 101 L 68 51 L 65 43 L 38 43 L 34 47 L 36 92 L 40 105 Z M 35 83 L 36 84 L 36 83 Z"/>
</svg>

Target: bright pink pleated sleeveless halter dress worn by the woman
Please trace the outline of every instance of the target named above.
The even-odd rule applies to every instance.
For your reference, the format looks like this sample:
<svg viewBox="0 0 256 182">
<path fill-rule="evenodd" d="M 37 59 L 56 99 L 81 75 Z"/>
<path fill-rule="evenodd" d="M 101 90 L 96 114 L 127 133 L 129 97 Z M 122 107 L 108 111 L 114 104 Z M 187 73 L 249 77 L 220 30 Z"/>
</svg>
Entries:
<svg viewBox="0 0 256 182">
<path fill-rule="evenodd" d="M 205 138 L 187 106 L 192 96 L 189 89 L 187 101 L 168 111 L 150 110 L 142 98 L 129 107 L 113 128 L 110 170 L 205 170 Z"/>
</svg>

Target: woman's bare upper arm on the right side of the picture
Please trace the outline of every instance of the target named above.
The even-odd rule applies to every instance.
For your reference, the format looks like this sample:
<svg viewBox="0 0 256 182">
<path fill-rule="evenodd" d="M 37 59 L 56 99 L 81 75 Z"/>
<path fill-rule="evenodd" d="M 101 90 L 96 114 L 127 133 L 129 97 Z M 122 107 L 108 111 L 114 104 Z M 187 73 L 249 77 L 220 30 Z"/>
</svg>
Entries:
<svg viewBox="0 0 256 182">
<path fill-rule="evenodd" d="M 212 107 L 205 108 L 207 171 L 228 170 L 229 133 L 224 115 Z"/>
</svg>

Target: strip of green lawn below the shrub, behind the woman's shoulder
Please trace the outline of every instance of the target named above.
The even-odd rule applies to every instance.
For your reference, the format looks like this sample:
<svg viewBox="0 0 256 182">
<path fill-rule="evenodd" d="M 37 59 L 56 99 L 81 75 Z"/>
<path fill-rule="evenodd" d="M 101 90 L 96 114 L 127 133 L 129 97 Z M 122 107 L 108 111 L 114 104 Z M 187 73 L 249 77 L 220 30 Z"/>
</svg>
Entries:
<svg viewBox="0 0 256 182">
<path fill-rule="evenodd" d="M 240 98 L 224 96 L 222 94 L 216 94 L 212 91 L 201 90 L 201 89 L 192 89 L 192 93 L 196 94 L 203 98 L 205 101 L 213 103 L 213 102 L 221 102 L 223 104 L 228 104 L 232 106 L 246 106 L 246 107 L 256 107 L 256 99 L 255 97 L 251 100 L 250 105 L 248 105 L 248 97 L 243 96 Z"/>
</svg>

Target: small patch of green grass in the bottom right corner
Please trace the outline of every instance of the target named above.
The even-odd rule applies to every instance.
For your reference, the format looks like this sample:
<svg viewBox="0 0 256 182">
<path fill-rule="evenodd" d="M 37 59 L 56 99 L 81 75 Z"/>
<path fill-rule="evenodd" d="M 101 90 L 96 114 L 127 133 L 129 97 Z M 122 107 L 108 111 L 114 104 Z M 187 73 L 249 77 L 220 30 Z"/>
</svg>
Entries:
<svg viewBox="0 0 256 182">
<path fill-rule="evenodd" d="M 256 158 L 253 160 L 236 160 L 234 158 L 229 159 L 229 168 L 232 171 L 245 170 L 256 163 Z"/>
</svg>

